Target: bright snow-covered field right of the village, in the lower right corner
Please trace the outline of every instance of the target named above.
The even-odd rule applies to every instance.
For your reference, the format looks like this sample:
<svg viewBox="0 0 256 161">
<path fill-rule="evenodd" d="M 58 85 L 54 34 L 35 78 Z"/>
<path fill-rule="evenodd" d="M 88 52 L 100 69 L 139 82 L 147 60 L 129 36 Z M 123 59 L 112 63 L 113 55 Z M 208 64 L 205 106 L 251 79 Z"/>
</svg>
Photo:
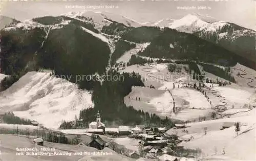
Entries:
<svg viewBox="0 0 256 161">
<path fill-rule="evenodd" d="M 185 128 L 187 132 L 183 129 L 170 129 L 167 133 L 181 137 L 193 136 L 189 142 L 182 142 L 180 145 L 185 148 L 199 148 L 203 156 L 222 155 L 229 157 L 228 160 L 255 160 L 255 116 L 256 110 L 252 109 L 246 113 L 237 113 L 231 118 L 188 123 Z M 224 123 L 234 124 L 236 122 L 241 123 L 238 135 L 234 126 L 221 130 Z M 204 134 L 205 127 L 207 128 L 206 135 Z M 223 150 L 225 154 L 222 154 Z"/>
</svg>

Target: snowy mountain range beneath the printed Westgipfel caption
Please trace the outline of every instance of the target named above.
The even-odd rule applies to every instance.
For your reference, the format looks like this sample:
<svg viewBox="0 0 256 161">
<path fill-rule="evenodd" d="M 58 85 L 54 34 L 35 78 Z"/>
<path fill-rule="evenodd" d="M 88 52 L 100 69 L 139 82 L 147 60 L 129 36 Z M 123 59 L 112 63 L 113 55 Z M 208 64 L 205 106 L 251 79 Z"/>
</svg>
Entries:
<svg viewBox="0 0 256 161">
<path fill-rule="evenodd" d="M 256 32 L 254 30 L 200 14 L 188 14 L 181 19 L 165 19 L 152 24 L 149 24 L 149 26 L 167 27 L 194 34 L 238 55 L 256 61 Z"/>
</svg>

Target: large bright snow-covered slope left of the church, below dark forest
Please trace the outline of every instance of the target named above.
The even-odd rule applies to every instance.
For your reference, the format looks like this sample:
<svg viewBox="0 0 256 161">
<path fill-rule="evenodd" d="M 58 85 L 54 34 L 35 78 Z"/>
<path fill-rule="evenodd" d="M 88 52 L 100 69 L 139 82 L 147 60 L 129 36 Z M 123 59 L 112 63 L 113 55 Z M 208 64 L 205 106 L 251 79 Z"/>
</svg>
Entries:
<svg viewBox="0 0 256 161">
<path fill-rule="evenodd" d="M 80 90 L 50 73 L 29 72 L 0 95 L 0 112 L 14 111 L 20 118 L 58 128 L 62 120 L 72 121 L 79 111 L 93 107 L 91 93 Z"/>
</svg>

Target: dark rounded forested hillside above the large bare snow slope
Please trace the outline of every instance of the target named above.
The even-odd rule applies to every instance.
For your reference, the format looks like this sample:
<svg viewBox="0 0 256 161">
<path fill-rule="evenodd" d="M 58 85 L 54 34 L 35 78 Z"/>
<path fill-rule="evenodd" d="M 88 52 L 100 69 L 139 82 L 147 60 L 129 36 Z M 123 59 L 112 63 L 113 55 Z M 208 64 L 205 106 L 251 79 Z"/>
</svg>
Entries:
<svg viewBox="0 0 256 161">
<path fill-rule="evenodd" d="M 51 68 L 55 75 L 72 76 L 71 82 L 91 89 L 88 81 L 76 82 L 77 75 L 103 74 L 108 64 L 108 44 L 75 25 L 50 32 L 44 48 L 38 54 L 39 66 Z"/>
</svg>

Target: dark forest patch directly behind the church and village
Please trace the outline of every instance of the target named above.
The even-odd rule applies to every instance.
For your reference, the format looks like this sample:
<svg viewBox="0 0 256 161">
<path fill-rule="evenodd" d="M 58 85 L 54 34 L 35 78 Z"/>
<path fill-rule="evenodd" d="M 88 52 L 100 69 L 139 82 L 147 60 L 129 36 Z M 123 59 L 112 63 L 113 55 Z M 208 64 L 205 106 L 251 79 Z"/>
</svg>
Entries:
<svg viewBox="0 0 256 161">
<path fill-rule="evenodd" d="M 169 119 L 160 119 L 156 114 L 135 110 L 132 106 L 127 107 L 123 98 L 132 91 L 132 86 L 144 86 L 140 75 L 136 73 L 119 74 L 115 71 L 108 75 L 118 76 L 118 81 L 104 81 L 102 85 L 96 84 L 93 88 L 94 108 L 80 111 L 83 124 L 88 125 L 95 120 L 97 111 L 100 111 L 102 121 L 108 125 L 136 125 L 146 124 L 152 126 L 173 127 Z M 65 122 L 60 127 L 67 128 L 69 123 Z"/>
</svg>

